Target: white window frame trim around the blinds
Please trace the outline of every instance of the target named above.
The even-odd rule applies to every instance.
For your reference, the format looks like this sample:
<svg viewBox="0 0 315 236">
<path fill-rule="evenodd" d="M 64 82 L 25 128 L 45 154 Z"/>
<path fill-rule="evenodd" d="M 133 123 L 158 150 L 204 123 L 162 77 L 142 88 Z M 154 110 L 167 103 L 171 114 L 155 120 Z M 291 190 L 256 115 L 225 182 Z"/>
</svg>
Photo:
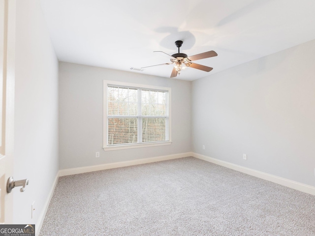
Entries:
<svg viewBox="0 0 315 236">
<path fill-rule="evenodd" d="M 128 143 L 119 145 L 108 145 L 108 116 L 107 116 L 107 87 L 112 86 L 122 86 L 131 88 L 140 88 L 142 90 L 158 90 L 168 92 L 168 140 L 167 141 L 154 141 L 147 143 Z M 138 104 L 139 105 L 139 104 Z M 131 149 L 131 148 L 143 148 L 143 147 L 154 147 L 162 145 L 170 145 L 172 143 L 172 128 L 171 128 L 171 88 L 170 87 L 159 87 L 153 85 L 144 85 L 136 83 L 128 83 L 113 80 L 103 80 L 103 149 L 104 151 L 121 150 L 121 149 Z M 138 127 L 139 132 L 139 127 Z"/>
</svg>

